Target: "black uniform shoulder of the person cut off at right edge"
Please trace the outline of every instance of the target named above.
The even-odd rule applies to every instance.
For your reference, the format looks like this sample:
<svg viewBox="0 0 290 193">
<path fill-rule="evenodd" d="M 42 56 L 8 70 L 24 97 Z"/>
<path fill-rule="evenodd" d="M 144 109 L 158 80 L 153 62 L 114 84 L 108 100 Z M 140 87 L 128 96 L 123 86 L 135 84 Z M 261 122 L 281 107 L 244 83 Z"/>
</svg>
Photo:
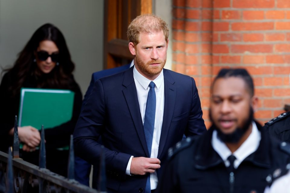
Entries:
<svg viewBox="0 0 290 193">
<path fill-rule="evenodd" d="M 290 143 L 290 112 L 284 112 L 266 122 L 264 128 L 271 136 Z"/>
</svg>

